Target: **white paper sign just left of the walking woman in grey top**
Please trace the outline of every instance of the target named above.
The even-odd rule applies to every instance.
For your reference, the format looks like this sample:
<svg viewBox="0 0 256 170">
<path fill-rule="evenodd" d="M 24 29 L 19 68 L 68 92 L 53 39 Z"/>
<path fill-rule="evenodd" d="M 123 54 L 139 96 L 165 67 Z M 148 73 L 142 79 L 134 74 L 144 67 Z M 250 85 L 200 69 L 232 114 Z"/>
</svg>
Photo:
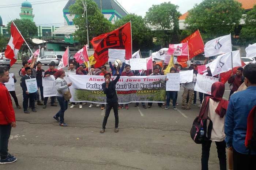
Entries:
<svg viewBox="0 0 256 170">
<path fill-rule="evenodd" d="M 53 75 L 43 78 L 42 84 L 44 87 L 44 97 L 56 96 L 57 89 Z"/>
</svg>

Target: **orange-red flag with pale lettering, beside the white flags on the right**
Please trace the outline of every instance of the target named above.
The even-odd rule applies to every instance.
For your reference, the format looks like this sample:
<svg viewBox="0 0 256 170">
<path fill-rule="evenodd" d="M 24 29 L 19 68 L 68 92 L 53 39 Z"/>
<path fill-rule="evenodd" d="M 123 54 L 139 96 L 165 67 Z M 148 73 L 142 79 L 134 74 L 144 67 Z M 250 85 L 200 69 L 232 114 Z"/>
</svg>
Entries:
<svg viewBox="0 0 256 170">
<path fill-rule="evenodd" d="M 199 30 L 183 39 L 181 43 L 188 42 L 189 59 L 204 52 L 204 42 Z M 188 56 L 178 56 L 178 62 L 188 61 Z"/>
</svg>

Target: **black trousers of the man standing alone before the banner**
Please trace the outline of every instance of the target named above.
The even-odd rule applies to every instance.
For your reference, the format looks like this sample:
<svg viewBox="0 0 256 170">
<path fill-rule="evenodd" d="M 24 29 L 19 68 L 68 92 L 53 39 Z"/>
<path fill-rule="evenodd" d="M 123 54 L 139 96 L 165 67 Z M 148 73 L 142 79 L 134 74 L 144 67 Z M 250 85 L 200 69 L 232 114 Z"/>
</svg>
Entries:
<svg viewBox="0 0 256 170">
<path fill-rule="evenodd" d="M 103 124 L 102 124 L 102 129 L 106 129 L 106 124 L 107 124 L 107 121 L 108 121 L 108 117 L 109 117 L 109 114 L 110 114 L 110 111 L 113 107 L 113 110 L 114 110 L 114 115 L 115 115 L 115 128 L 118 128 L 118 102 L 116 103 L 107 103 L 106 104 L 106 112 L 105 112 L 105 116 L 104 116 L 104 119 L 103 119 Z"/>
</svg>

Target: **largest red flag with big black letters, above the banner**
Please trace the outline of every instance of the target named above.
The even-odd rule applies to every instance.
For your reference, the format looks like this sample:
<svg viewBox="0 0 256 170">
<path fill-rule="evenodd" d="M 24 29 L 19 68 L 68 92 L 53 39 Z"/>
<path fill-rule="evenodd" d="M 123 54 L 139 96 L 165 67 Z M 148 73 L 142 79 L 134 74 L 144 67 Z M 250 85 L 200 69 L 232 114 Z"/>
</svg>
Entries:
<svg viewBox="0 0 256 170">
<path fill-rule="evenodd" d="M 97 61 L 95 68 L 101 67 L 108 61 L 108 49 L 125 49 L 125 58 L 132 57 L 131 23 L 128 22 L 120 28 L 94 37 L 91 40 L 94 49 L 94 58 Z"/>
</svg>

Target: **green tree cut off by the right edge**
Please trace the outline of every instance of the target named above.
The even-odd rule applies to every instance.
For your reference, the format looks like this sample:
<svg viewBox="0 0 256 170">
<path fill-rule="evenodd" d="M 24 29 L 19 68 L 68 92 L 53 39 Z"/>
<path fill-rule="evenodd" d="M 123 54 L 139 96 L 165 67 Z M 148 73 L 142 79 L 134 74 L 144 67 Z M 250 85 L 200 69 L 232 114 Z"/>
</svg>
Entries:
<svg viewBox="0 0 256 170">
<path fill-rule="evenodd" d="M 254 44 L 256 42 L 256 5 L 246 13 L 244 20 L 245 25 L 241 30 L 240 41 L 245 45 Z"/>
</svg>

